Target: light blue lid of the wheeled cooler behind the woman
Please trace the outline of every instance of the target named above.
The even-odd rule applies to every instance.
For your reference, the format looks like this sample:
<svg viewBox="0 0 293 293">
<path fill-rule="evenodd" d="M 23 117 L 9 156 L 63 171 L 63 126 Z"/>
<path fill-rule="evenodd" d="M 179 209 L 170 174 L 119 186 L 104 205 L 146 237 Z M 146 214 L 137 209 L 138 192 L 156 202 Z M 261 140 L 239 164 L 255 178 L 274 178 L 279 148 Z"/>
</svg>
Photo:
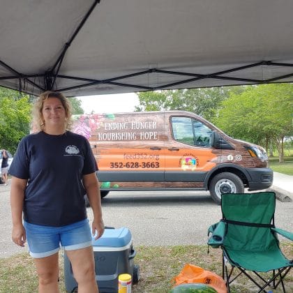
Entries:
<svg viewBox="0 0 293 293">
<path fill-rule="evenodd" d="M 130 230 L 126 227 L 118 229 L 105 229 L 104 234 L 98 239 L 93 239 L 93 246 L 123 247 L 132 241 Z"/>
</svg>

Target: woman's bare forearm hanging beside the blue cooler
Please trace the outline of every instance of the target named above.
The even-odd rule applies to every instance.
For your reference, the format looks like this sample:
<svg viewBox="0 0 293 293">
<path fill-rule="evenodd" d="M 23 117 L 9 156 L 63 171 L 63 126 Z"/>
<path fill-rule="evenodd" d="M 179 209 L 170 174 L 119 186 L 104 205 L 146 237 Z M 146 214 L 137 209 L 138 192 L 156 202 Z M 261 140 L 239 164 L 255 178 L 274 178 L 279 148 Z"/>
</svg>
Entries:
<svg viewBox="0 0 293 293">
<path fill-rule="evenodd" d="M 87 197 L 89 198 L 89 204 L 91 204 L 91 209 L 93 210 L 91 230 L 93 235 L 98 232 L 95 237 L 96 240 L 104 233 L 102 206 L 100 204 L 100 188 L 96 172 L 82 176 L 82 182 L 87 192 Z"/>
</svg>

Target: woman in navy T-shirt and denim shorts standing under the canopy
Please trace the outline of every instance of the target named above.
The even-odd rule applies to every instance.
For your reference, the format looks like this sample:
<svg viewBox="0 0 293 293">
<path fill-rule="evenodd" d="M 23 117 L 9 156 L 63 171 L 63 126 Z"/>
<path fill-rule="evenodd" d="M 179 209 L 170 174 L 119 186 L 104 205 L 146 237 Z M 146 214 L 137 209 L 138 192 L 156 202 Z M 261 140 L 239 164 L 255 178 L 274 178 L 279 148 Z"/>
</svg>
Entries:
<svg viewBox="0 0 293 293">
<path fill-rule="evenodd" d="M 41 94 L 34 110 L 39 132 L 22 139 L 10 166 L 13 242 L 24 246 L 27 241 L 39 292 L 59 292 L 60 245 L 73 267 L 78 292 L 98 292 L 91 233 L 98 239 L 104 225 L 96 160 L 89 142 L 68 131 L 70 105 L 62 93 Z M 85 193 L 93 209 L 91 229 Z"/>
</svg>

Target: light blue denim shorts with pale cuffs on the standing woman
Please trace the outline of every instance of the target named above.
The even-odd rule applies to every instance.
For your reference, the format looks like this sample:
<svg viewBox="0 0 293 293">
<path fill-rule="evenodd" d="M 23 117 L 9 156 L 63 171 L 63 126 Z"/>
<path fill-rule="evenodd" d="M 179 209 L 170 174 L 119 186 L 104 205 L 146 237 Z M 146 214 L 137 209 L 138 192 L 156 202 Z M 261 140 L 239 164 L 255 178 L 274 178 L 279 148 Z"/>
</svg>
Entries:
<svg viewBox="0 0 293 293">
<path fill-rule="evenodd" d="M 62 227 L 40 226 L 24 221 L 29 254 L 40 258 L 54 255 L 60 249 L 76 250 L 92 245 L 89 219 Z"/>
</svg>

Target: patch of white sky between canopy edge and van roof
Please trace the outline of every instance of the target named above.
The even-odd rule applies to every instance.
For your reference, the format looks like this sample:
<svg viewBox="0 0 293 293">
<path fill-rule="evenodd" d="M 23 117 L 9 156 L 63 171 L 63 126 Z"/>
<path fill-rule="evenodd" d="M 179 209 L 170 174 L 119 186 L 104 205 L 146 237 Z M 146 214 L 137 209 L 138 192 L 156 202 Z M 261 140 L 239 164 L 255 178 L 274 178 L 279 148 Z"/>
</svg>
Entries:
<svg viewBox="0 0 293 293">
<path fill-rule="evenodd" d="M 135 93 L 116 93 L 112 95 L 80 96 L 84 114 L 134 112 L 135 106 L 139 105 Z"/>
</svg>

